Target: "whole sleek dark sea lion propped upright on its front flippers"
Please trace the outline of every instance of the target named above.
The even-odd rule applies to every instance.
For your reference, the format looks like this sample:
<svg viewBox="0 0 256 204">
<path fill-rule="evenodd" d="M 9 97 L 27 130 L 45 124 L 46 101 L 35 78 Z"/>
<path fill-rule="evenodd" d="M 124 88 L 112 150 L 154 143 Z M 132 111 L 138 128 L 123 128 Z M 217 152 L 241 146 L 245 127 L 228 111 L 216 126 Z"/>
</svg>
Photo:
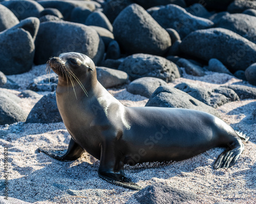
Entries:
<svg viewBox="0 0 256 204">
<path fill-rule="evenodd" d="M 102 87 L 92 59 L 84 54 L 62 53 L 50 58 L 48 65 L 59 76 L 57 106 L 72 137 L 66 152 L 39 149 L 55 159 L 75 160 L 87 151 L 100 160 L 101 178 L 139 190 L 140 186 L 124 176 L 124 164 L 179 161 L 226 147 L 214 168 L 228 168 L 244 151 L 239 135 L 214 115 L 179 108 L 123 106 Z"/>
</svg>

